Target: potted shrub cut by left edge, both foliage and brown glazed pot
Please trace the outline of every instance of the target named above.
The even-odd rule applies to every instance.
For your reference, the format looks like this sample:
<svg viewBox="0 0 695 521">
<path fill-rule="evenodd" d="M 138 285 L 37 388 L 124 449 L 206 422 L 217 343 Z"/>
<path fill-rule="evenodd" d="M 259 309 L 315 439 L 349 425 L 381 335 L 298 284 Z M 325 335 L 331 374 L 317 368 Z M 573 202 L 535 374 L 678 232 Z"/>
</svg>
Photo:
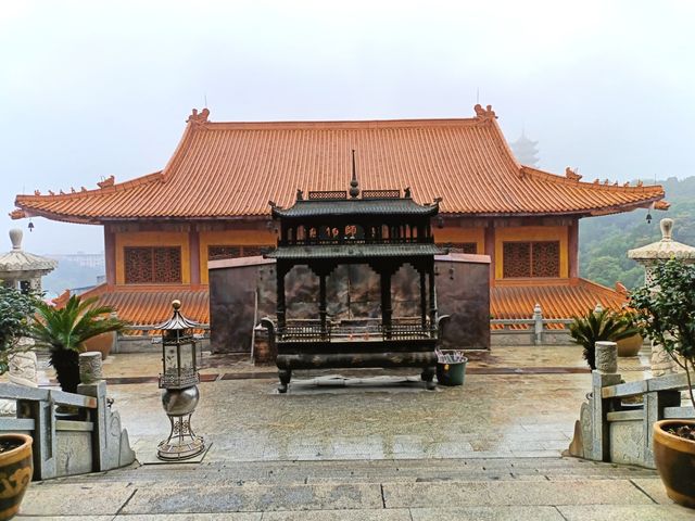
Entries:
<svg viewBox="0 0 695 521">
<path fill-rule="evenodd" d="M 20 340 L 27 334 L 38 298 L 14 288 L 0 285 L 0 373 L 12 355 L 24 351 Z M 26 434 L 0 434 L 0 520 L 11 519 L 31 481 L 33 440 Z"/>
</svg>

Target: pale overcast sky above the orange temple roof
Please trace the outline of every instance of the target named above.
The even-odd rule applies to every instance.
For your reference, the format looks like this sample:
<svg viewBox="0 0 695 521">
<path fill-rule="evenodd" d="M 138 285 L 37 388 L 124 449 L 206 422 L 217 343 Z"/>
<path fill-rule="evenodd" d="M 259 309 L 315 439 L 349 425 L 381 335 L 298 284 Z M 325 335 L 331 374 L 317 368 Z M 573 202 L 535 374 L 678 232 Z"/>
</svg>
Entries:
<svg viewBox="0 0 695 521">
<path fill-rule="evenodd" d="M 695 2 L 0 3 L 0 251 L 17 193 L 161 169 L 192 107 L 213 120 L 470 117 L 492 104 L 539 166 L 695 175 Z M 99 226 L 34 219 L 36 253 Z"/>
</svg>

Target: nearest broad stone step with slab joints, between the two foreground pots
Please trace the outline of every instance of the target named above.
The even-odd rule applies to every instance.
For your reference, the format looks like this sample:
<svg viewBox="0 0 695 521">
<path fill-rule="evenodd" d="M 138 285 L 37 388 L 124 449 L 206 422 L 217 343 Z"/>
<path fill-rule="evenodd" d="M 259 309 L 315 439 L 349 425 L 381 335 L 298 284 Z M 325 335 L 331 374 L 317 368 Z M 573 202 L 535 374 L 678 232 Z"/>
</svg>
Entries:
<svg viewBox="0 0 695 521">
<path fill-rule="evenodd" d="M 640 483 L 637 483 L 640 482 Z M 276 485 L 229 485 L 197 482 L 164 483 L 61 483 L 43 482 L 30 486 L 23 504 L 24 516 L 114 516 L 178 514 L 222 512 L 372 511 L 441 509 L 447 513 L 480 508 L 515 507 L 650 507 L 664 498 L 657 478 L 644 480 L 557 481 L 460 481 L 445 483 L 323 483 Z M 472 509 L 472 510 L 471 510 Z M 668 507 L 653 513 L 659 518 L 685 519 Z M 684 510 L 684 509 L 683 509 Z M 444 513 L 444 512 L 443 512 Z M 509 512 L 511 513 L 511 512 Z M 629 513 L 626 511 L 624 513 Z M 692 512 L 687 512 L 691 516 Z M 304 512 L 306 516 L 307 512 Z M 666 517 L 664 517 L 666 516 Z M 294 518 L 291 518 L 294 519 Z M 299 519 L 299 518 L 298 518 Z M 317 518 L 306 518 L 317 519 Z M 327 518 L 321 518 L 327 519 Z M 342 518 L 337 518 L 342 519 Z M 359 519 L 359 518 L 354 518 Z M 375 518 L 383 519 L 383 518 Z M 484 519 L 444 516 L 441 519 Z M 491 518 L 501 519 L 501 518 Z M 504 518 L 514 519 L 514 518 Z M 517 518 L 520 519 L 520 518 Z M 523 519 L 523 518 L 521 518 Z M 529 518 L 526 518 L 529 519 Z M 533 518 L 532 518 L 533 519 Z M 563 519 L 556 517 L 554 519 Z M 589 518 L 604 519 L 604 518 Z"/>
</svg>

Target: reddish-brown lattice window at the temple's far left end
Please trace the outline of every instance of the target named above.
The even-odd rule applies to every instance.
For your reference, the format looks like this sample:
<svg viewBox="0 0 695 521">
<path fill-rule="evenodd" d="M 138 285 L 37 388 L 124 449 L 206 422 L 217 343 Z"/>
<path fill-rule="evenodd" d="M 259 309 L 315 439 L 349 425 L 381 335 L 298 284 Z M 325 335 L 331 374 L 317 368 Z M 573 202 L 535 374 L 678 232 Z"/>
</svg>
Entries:
<svg viewBox="0 0 695 521">
<path fill-rule="evenodd" d="M 126 284 L 181 282 L 179 246 L 127 246 L 124 257 Z"/>
</svg>

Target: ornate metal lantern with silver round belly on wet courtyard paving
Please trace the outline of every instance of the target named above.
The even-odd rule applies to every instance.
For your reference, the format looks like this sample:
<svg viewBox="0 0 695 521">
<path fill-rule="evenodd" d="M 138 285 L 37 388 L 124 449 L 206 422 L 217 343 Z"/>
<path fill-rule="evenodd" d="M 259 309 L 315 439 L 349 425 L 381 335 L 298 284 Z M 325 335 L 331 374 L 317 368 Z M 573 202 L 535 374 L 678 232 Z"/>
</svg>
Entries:
<svg viewBox="0 0 695 521">
<path fill-rule="evenodd" d="M 164 390 L 162 406 L 170 423 L 169 436 L 160 442 L 156 455 L 166 461 L 193 458 L 205 450 L 203 437 L 191 428 L 200 398 L 193 330 L 201 325 L 181 315 L 179 301 L 172 302 L 172 318 L 154 327 L 162 331 L 160 389 Z"/>
</svg>

